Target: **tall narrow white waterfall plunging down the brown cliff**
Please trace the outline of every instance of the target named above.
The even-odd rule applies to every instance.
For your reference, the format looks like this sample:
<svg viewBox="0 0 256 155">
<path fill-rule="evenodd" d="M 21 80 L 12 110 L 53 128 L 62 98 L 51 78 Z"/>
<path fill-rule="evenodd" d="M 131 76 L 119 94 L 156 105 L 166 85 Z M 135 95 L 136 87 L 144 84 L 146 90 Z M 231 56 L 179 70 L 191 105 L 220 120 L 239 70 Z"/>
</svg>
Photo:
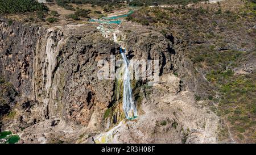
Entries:
<svg viewBox="0 0 256 155">
<path fill-rule="evenodd" d="M 123 63 L 125 65 L 125 70 L 123 74 L 123 111 L 127 119 L 137 118 L 137 108 L 133 100 L 133 93 L 131 89 L 130 82 L 130 72 L 129 72 L 129 60 L 127 59 L 122 48 L 120 47 L 120 53 L 123 58 Z"/>
</svg>

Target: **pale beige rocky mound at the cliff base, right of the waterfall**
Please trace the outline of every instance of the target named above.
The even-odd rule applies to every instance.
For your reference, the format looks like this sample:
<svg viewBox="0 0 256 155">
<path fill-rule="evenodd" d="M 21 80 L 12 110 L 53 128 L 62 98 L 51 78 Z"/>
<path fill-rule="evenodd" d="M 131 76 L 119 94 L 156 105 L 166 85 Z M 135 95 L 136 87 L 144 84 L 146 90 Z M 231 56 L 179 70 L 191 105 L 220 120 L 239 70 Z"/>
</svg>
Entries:
<svg viewBox="0 0 256 155">
<path fill-rule="evenodd" d="M 199 105 L 192 92 L 177 93 L 179 78 L 164 74 L 161 79 L 142 101 L 144 114 L 117 128 L 110 143 L 218 143 L 218 116 Z"/>
</svg>

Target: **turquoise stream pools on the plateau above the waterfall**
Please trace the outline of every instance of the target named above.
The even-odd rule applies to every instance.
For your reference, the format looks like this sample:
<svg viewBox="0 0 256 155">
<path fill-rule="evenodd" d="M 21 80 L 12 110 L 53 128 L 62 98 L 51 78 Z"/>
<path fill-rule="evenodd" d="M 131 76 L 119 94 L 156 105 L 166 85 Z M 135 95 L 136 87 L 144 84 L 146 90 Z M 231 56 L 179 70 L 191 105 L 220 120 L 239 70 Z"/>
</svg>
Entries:
<svg viewBox="0 0 256 155">
<path fill-rule="evenodd" d="M 132 14 L 134 11 L 129 11 L 127 14 L 111 16 L 111 17 L 102 17 L 101 19 L 90 19 L 89 22 L 97 22 L 97 23 L 107 23 L 107 24 L 121 24 L 122 20 L 115 20 L 118 18 L 125 18 L 126 16 Z"/>
</svg>

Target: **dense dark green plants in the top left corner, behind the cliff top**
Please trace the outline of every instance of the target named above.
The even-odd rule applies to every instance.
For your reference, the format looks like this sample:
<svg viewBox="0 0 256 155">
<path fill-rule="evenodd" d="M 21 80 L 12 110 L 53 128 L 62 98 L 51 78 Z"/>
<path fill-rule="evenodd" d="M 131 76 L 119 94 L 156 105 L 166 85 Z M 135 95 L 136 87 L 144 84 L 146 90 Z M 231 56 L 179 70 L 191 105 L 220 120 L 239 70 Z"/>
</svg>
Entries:
<svg viewBox="0 0 256 155">
<path fill-rule="evenodd" d="M 1 0 L 0 14 L 48 10 L 47 6 L 35 0 Z"/>
</svg>

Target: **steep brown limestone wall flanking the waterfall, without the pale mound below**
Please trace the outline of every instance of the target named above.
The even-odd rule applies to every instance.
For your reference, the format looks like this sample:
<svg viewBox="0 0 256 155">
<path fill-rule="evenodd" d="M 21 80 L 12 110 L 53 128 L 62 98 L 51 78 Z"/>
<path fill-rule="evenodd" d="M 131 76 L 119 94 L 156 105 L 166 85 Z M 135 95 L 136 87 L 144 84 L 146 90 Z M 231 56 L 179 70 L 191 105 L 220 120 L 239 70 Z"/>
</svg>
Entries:
<svg viewBox="0 0 256 155">
<path fill-rule="evenodd" d="M 119 45 L 89 24 L 36 27 L 13 22 L 9 26 L 3 18 L 0 27 L 0 74 L 30 100 L 30 119 L 36 123 L 57 118 L 100 130 L 115 85 L 114 80 L 97 78 L 97 62 L 109 61 L 110 55 L 118 58 Z M 154 31 L 125 29 L 118 35 L 125 35 L 122 41 L 129 58 L 158 59 L 160 74 L 170 72 L 170 41 Z"/>
</svg>

